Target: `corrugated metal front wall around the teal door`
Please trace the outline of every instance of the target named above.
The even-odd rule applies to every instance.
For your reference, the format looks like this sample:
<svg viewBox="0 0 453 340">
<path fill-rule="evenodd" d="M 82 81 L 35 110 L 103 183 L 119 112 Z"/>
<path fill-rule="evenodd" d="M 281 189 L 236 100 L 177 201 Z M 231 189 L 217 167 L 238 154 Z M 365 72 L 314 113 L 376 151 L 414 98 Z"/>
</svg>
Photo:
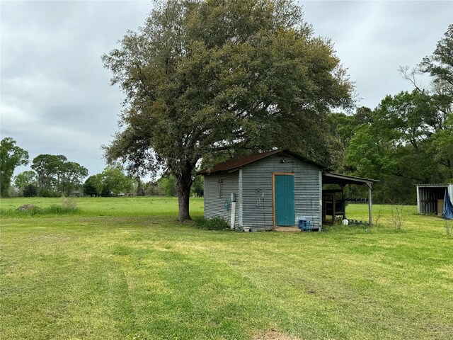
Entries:
<svg viewBox="0 0 453 340">
<path fill-rule="evenodd" d="M 281 162 L 283 158 L 284 163 Z M 320 227 L 321 169 L 293 157 L 283 157 L 282 154 L 243 166 L 243 226 L 261 230 L 273 228 L 274 172 L 294 172 L 294 225 L 304 217 Z"/>
</svg>

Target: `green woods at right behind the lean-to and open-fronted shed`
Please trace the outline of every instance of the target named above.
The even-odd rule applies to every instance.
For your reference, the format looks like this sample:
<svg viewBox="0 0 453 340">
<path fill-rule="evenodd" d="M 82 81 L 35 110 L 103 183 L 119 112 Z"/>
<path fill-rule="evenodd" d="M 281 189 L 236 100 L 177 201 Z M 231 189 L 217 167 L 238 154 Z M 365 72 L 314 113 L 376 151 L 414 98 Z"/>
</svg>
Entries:
<svg viewBox="0 0 453 340">
<path fill-rule="evenodd" d="M 415 184 L 453 183 L 453 25 L 432 55 L 399 71 L 412 91 L 354 115 L 331 115 L 335 169 L 379 179 L 377 203 L 415 203 Z M 421 74 L 430 75 L 430 86 L 418 84 Z"/>
</svg>

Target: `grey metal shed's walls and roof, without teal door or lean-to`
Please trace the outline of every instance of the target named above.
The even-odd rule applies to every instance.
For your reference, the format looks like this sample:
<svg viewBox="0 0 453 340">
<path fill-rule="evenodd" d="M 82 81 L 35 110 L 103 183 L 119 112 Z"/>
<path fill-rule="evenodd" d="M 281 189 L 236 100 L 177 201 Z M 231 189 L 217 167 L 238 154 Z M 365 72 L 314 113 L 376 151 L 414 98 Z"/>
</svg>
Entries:
<svg viewBox="0 0 453 340">
<path fill-rule="evenodd" d="M 297 220 L 306 219 L 312 226 L 321 228 L 322 169 L 326 167 L 287 150 L 274 150 L 202 170 L 199 174 L 205 175 L 205 217 L 221 216 L 229 220 L 222 201 L 217 198 L 217 183 L 223 179 L 225 193 L 237 194 L 236 224 L 272 230 L 275 227 L 273 176 L 288 174 L 294 176 L 294 226 Z M 223 202 L 226 199 L 224 196 Z"/>
</svg>

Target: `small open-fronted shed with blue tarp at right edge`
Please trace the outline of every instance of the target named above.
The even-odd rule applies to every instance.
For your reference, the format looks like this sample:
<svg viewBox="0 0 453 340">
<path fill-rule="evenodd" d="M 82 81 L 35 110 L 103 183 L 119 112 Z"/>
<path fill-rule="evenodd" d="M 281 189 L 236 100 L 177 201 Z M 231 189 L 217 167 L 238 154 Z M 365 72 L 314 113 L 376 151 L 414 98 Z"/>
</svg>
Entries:
<svg viewBox="0 0 453 340">
<path fill-rule="evenodd" d="M 418 213 L 443 215 L 446 198 L 453 204 L 453 183 L 418 184 Z"/>
</svg>

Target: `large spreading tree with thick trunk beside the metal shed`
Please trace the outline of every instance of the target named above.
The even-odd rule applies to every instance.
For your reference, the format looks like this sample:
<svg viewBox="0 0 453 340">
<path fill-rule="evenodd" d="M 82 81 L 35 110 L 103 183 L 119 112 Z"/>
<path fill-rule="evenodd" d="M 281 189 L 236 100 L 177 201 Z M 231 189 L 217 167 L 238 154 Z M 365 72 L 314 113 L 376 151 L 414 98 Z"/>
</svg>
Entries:
<svg viewBox="0 0 453 340">
<path fill-rule="evenodd" d="M 333 45 L 292 1 L 162 1 L 120 44 L 103 55 L 125 92 L 107 159 L 173 174 L 180 221 L 200 159 L 273 147 L 322 159 L 326 115 L 351 104 Z"/>
</svg>

